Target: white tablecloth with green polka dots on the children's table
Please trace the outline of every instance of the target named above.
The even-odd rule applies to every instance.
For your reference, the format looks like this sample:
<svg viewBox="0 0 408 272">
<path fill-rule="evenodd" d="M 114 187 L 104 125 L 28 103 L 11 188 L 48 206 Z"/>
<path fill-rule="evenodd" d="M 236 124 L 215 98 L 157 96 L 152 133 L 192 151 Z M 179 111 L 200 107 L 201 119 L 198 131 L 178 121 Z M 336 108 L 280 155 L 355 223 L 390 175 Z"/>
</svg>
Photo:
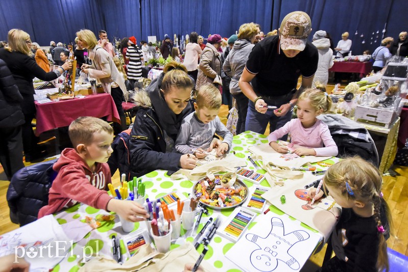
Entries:
<svg viewBox="0 0 408 272">
<path fill-rule="evenodd" d="M 235 151 L 235 156 L 237 156 L 238 158 L 246 159 L 246 157 L 250 155 L 249 151 L 247 151 L 248 146 L 259 145 L 267 142 L 268 140 L 265 135 L 261 135 L 251 131 L 246 131 L 234 137 L 233 146 L 230 152 L 233 153 L 233 151 Z M 250 164 L 250 162 L 248 160 L 246 161 L 248 165 L 247 167 L 251 170 L 254 170 L 254 167 Z M 166 174 L 166 171 L 162 170 L 153 171 L 141 178 L 146 187 L 146 198 L 149 199 L 157 199 L 173 191 L 179 191 L 183 195 L 188 197 L 188 194 L 192 193 L 192 187 L 194 184 L 192 181 L 187 179 L 173 181 L 170 179 L 170 176 Z M 249 187 L 249 189 L 252 186 L 255 186 L 250 182 L 245 183 Z M 269 184 L 267 183 L 267 181 L 263 181 L 261 183 L 261 186 L 269 187 Z M 276 214 L 276 216 L 288 216 L 287 214 L 283 213 L 281 210 L 278 210 L 274 206 L 269 206 L 269 208 L 271 212 Z M 209 208 L 210 214 L 202 215 L 201 223 L 198 227 L 198 230 L 200 230 L 203 227 L 203 225 L 207 222 L 209 217 L 213 217 L 215 219 L 216 216 L 220 216 L 220 219 L 226 220 L 226 218 L 233 211 L 234 208 L 222 211 L 213 210 Z M 56 214 L 55 217 L 60 224 L 65 224 L 73 220 L 84 221 L 85 216 L 95 217 L 97 214 L 106 213 L 107 212 L 104 210 L 98 210 L 84 204 L 78 204 Z M 262 215 L 263 214 L 256 216 L 254 221 L 249 225 L 248 228 L 250 229 L 255 224 L 257 224 L 258 222 L 257 219 Z M 299 222 L 299 225 L 300 224 L 301 223 Z M 135 223 L 134 231 L 139 230 L 141 228 L 146 228 L 146 222 Z M 53 272 L 77 271 L 80 268 L 79 265 L 83 261 L 82 257 L 84 256 L 84 252 L 86 253 L 86 256 L 90 256 L 91 253 L 93 253 L 93 255 L 97 254 L 100 256 L 108 256 L 109 258 L 112 258 L 112 241 L 111 241 L 112 236 L 115 235 L 121 237 L 126 234 L 127 233 L 124 233 L 122 231 L 120 221 L 117 216 L 114 222 L 104 222 L 103 225 L 101 225 L 101 227 L 91 231 L 82 240 L 80 240 L 78 243 L 75 243 L 72 254 L 70 254 L 62 262 L 60 262 L 54 268 Z M 192 230 L 187 231 L 183 229 L 182 224 L 181 237 L 177 240 L 172 241 L 170 249 L 179 247 L 181 244 L 185 243 L 185 241 L 192 242 L 193 238 L 195 237 L 195 234 L 196 233 L 192 233 Z M 227 272 L 241 271 L 241 269 L 237 267 L 237 265 L 235 265 L 233 262 L 224 257 L 226 252 L 228 252 L 228 250 L 230 250 L 233 245 L 234 243 L 232 241 L 216 234 L 208 246 L 208 252 L 204 259 L 214 266 L 215 268 L 214 270 Z M 310 246 L 314 248 L 316 244 Z M 201 245 L 198 248 L 198 251 L 199 252 L 202 251 Z M 122 256 L 124 260 L 129 258 L 129 255 L 127 255 L 126 249 L 122 241 L 121 252 L 123 254 Z M 183 267 L 180 267 L 180 270 L 183 270 Z"/>
</svg>

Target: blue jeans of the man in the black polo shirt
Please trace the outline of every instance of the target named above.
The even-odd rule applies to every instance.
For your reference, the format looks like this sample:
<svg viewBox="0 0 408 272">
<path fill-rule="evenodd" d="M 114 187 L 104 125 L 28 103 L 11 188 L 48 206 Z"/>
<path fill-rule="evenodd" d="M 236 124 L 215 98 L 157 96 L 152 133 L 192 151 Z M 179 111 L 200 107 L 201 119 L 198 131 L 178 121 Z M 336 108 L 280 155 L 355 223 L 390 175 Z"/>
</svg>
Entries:
<svg viewBox="0 0 408 272">
<path fill-rule="evenodd" d="M 279 108 L 281 105 L 286 104 L 293 97 L 293 93 L 284 96 L 278 96 L 272 99 L 263 98 L 264 101 L 271 106 L 276 106 Z M 287 122 L 292 118 L 292 111 L 289 111 L 286 115 L 277 117 L 274 113 L 274 110 L 268 110 L 265 114 L 261 114 L 255 110 L 254 104 L 251 100 L 248 102 L 248 113 L 246 115 L 245 129 L 260 134 L 264 134 L 266 126 L 269 122 L 269 132 L 283 127 Z M 286 141 L 287 136 L 282 137 L 282 140 Z"/>
</svg>

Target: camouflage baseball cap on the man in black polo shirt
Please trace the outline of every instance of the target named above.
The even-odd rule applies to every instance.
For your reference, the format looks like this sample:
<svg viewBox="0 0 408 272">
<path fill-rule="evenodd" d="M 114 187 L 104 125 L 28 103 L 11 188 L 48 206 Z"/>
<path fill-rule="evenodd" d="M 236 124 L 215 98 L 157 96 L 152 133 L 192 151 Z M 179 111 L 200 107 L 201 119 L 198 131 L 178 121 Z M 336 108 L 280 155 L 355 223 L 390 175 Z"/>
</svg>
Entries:
<svg viewBox="0 0 408 272">
<path fill-rule="evenodd" d="M 307 13 L 294 11 L 286 15 L 279 29 L 282 50 L 303 51 L 311 28 L 312 21 Z"/>
</svg>

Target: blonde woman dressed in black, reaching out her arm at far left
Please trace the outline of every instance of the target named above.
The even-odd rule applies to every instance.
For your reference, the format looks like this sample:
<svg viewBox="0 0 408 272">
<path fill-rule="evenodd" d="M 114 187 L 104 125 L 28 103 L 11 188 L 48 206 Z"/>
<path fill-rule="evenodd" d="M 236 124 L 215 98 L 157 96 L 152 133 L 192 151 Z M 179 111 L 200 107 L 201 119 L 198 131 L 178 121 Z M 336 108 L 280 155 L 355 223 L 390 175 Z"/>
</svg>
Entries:
<svg viewBox="0 0 408 272">
<path fill-rule="evenodd" d="M 72 68 L 72 63 L 66 62 L 57 70 L 45 72 L 37 65 L 32 57 L 30 35 L 22 30 L 12 29 L 8 34 L 8 47 L 0 49 L 0 59 L 4 60 L 9 67 L 23 97 L 21 103 L 22 112 L 24 114 L 25 123 L 22 126 L 23 149 L 25 161 L 40 157 L 37 148 L 37 138 L 34 135 L 31 121 L 35 116 L 34 105 L 34 86 L 33 78 L 38 77 L 44 81 L 54 80 L 61 75 L 65 70 Z M 37 153 L 36 153 L 37 152 Z"/>
</svg>

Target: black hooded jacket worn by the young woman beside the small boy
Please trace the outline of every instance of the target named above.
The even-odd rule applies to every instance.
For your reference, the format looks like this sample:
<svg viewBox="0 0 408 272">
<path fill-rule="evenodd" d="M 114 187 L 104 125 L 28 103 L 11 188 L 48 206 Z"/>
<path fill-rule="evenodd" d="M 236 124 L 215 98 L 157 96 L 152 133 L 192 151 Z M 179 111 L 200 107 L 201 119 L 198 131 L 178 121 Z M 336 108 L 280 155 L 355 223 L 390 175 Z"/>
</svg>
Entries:
<svg viewBox="0 0 408 272">
<path fill-rule="evenodd" d="M 170 172 L 179 170 L 182 154 L 175 151 L 166 152 L 165 135 L 175 142 L 181 122 L 192 110 L 190 104 L 179 115 L 170 110 L 160 91 L 163 76 L 164 73 L 154 79 L 146 91 L 139 91 L 134 97 L 139 110 L 127 145 L 130 152 L 131 178 L 157 169 Z M 165 130 L 165 126 L 169 129 Z M 174 131 L 176 132 L 172 133 Z"/>
</svg>

